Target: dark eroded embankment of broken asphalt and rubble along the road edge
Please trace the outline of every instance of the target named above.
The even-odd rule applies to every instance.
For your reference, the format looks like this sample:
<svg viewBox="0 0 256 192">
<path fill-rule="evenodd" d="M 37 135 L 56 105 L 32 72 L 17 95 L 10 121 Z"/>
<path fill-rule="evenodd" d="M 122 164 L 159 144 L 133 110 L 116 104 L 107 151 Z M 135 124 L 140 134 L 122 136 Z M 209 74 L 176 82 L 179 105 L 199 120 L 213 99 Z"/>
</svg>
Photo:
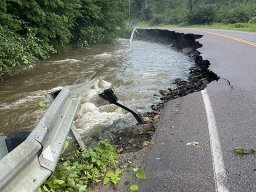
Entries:
<svg viewBox="0 0 256 192">
<path fill-rule="evenodd" d="M 176 79 L 174 89 L 159 90 L 162 102 L 152 105 L 152 111 L 144 114 L 147 123 L 116 131 L 114 141 L 121 151 L 136 151 L 150 144 L 155 132 L 154 124 L 157 122 L 164 103 L 187 94 L 203 90 L 211 81 L 218 80 L 219 77 L 209 70 L 210 62 L 204 60 L 197 50 L 202 47 L 197 39 L 201 35 L 177 33 L 162 29 L 137 29 L 135 39 L 144 41 L 154 41 L 170 45 L 183 52 L 195 61 L 195 66 L 190 69 L 187 81 Z"/>
</svg>

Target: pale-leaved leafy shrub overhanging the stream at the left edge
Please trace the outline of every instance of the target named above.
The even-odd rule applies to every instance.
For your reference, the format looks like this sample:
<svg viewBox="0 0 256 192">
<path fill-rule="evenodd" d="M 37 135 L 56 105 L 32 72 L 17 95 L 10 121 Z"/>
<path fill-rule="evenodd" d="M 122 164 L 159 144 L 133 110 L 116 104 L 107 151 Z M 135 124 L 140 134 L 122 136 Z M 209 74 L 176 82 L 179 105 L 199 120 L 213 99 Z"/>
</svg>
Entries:
<svg viewBox="0 0 256 192">
<path fill-rule="evenodd" d="M 9 72 L 13 67 L 31 64 L 55 52 L 53 46 L 43 42 L 32 33 L 21 36 L 0 26 L 0 76 Z"/>
</svg>

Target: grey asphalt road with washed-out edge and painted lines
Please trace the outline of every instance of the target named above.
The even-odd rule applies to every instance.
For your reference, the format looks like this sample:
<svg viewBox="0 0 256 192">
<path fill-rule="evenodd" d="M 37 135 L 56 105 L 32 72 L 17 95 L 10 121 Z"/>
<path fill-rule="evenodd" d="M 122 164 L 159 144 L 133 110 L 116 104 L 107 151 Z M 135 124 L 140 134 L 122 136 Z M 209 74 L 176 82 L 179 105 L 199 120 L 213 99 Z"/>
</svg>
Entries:
<svg viewBox="0 0 256 192">
<path fill-rule="evenodd" d="M 140 191 L 256 192 L 256 154 L 234 152 L 256 147 L 256 33 L 169 30 L 202 34 L 199 51 L 220 80 L 167 103 Z"/>
</svg>

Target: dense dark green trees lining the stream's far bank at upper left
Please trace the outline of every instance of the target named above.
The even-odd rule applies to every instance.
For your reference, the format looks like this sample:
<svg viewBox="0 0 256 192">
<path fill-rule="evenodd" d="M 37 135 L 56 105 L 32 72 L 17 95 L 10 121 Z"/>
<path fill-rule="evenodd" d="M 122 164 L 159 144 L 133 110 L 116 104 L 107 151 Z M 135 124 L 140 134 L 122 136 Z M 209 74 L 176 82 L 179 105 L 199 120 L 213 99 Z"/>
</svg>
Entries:
<svg viewBox="0 0 256 192">
<path fill-rule="evenodd" d="M 108 42 L 128 19 L 124 0 L 0 1 L 0 76 L 69 46 Z"/>
</svg>

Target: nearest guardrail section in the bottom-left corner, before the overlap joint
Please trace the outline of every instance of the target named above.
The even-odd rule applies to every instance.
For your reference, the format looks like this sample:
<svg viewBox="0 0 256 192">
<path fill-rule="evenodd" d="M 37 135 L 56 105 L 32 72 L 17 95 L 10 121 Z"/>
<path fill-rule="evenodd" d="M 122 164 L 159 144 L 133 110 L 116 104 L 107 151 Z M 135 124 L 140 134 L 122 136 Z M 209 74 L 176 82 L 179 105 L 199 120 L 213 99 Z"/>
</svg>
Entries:
<svg viewBox="0 0 256 192">
<path fill-rule="evenodd" d="M 0 191 L 36 191 L 51 175 L 51 171 L 40 166 L 38 152 L 42 146 L 28 137 L 0 161 Z"/>
</svg>

